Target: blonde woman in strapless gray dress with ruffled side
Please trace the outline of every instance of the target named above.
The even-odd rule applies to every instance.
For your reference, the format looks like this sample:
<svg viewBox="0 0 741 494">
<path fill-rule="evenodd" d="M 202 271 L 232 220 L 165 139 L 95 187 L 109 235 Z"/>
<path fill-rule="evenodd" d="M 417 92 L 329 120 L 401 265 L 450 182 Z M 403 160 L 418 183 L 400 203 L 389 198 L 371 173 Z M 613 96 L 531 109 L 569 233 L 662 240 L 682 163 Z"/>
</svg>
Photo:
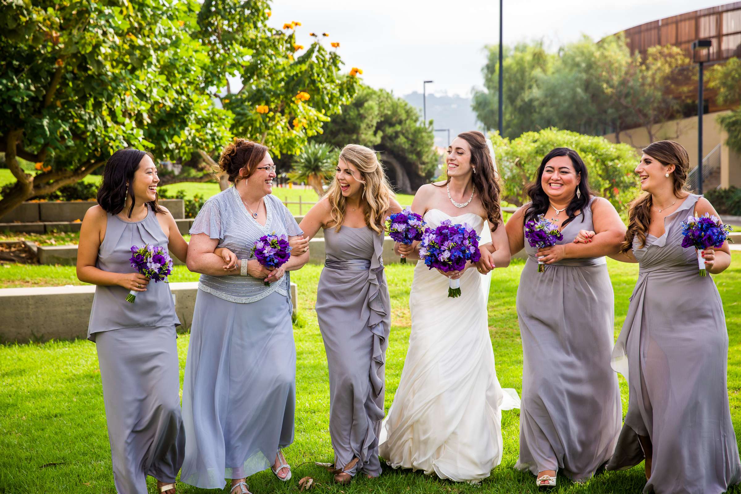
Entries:
<svg viewBox="0 0 741 494">
<path fill-rule="evenodd" d="M 383 268 L 385 218 L 401 207 L 376 152 L 342 149 L 327 195 L 301 222 L 305 235 L 325 231 L 327 259 L 316 293 L 316 317 L 327 352 L 329 429 L 334 480 L 381 475 L 379 433 L 391 300 Z"/>
</svg>

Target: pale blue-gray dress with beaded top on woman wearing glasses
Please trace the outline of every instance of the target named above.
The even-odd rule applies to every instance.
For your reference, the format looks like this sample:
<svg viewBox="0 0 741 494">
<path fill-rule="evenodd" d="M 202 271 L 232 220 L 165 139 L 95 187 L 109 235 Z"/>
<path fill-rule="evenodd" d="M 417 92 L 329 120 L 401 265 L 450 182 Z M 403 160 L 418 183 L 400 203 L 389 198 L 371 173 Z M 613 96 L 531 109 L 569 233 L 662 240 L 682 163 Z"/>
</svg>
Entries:
<svg viewBox="0 0 741 494">
<path fill-rule="evenodd" d="M 206 201 L 190 233 L 218 239 L 241 259 L 261 236 L 302 233 L 278 198 L 265 196 L 265 208 L 263 226 L 230 187 Z M 183 482 L 221 489 L 227 478 L 267 469 L 293 442 L 291 310 L 289 273 L 269 287 L 251 276 L 200 277 L 183 384 Z"/>
</svg>

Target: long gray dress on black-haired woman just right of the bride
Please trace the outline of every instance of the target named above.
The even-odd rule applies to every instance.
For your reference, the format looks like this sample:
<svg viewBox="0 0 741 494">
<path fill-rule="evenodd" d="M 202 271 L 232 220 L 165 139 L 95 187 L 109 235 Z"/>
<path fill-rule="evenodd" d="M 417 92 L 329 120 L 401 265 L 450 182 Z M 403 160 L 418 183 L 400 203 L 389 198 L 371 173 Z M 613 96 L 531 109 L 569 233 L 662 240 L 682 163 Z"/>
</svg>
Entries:
<svg viewBox="0 0 741 494">
<path fill-rule="evenodd" d="M 590 201 L 563 227 L 563 240 L 594 230 Z M 560 470 L 574 481 L 594 475 L 617 443 L 622 406 L 610 367 L 614 295 L 604 257 L 568 258 L 538 273 L 537 249 L 517 288 L 522 338 L 522 404 L 516 468 Z"/>
</svg>

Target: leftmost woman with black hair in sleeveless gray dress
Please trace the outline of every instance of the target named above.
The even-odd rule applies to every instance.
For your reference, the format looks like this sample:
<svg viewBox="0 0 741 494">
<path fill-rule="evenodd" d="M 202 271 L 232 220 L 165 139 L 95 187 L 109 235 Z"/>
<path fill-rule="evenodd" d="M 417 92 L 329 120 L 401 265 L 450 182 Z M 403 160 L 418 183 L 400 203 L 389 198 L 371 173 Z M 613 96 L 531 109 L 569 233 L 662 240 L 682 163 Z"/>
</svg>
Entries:
<svg viewBox="0 0 741 494">
<path fill-rule="evenodd" d="M 175 344 L 180 321 L 170 286 L 150 284 L 129 262 L 130 248 L 144 244 L 169 247 L 185 261 L 187 242 L 157 203 L 158 183 L 150 153 L 113 153 L 98 205 L 82 221 L 77 252 L 77 277 L 97 285 L 87 339 L 98 351 L 113 480 L 127 494 L 146 494 L 147 475 L 157 479 L 158 492 L 175 493 L 185 452 Z M 225 257 L 234 258 L 228 251 Z M 126 301 L 130 290 L 139 292 L 134 304 Z"/>
</svg>

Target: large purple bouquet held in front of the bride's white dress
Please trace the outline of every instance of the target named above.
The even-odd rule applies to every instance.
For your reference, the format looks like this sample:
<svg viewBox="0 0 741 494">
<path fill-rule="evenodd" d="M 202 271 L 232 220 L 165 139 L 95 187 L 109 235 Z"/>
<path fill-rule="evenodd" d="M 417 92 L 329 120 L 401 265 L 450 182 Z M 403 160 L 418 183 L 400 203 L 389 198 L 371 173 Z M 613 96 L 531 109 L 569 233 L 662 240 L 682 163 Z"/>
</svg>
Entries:
<svg viewBox="0 0 741 494">
<path fill-rule="evenodd" d="M 452 224 L 451 220 L 446 219 L 434 230 L 425 228 L 419 244 L 419 256 L 429 269 L 435 267 L 445 273 L 460 271 L 467 261 L 477 262 L 481 258 L 479 236 L 468 224 Z M 460 295 L 460 280 L 449 280 L 448 297 Z"/>
</svg>

